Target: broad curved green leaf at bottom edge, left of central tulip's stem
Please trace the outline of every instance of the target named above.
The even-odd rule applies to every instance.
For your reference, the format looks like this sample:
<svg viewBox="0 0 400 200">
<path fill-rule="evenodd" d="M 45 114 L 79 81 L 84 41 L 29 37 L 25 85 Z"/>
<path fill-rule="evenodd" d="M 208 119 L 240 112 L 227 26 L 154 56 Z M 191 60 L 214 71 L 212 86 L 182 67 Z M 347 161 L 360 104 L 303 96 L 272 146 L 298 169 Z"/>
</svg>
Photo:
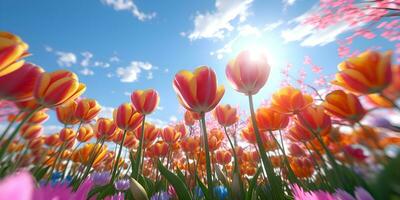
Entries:
<svg viewBox="0 0 400 200">
<path fill-rule="evenodd" d="M 179 199 L 192 199 L 192 196 L 190 195 L 185 183 L 177 175 L 170 172 L 166 167 L 164 167 L 160 160 L 158 160 L 157 168 L 160 173 L 168 180 L 168 182 L 171 183 L 171 185 L 174 187 Z"/>
</svg>

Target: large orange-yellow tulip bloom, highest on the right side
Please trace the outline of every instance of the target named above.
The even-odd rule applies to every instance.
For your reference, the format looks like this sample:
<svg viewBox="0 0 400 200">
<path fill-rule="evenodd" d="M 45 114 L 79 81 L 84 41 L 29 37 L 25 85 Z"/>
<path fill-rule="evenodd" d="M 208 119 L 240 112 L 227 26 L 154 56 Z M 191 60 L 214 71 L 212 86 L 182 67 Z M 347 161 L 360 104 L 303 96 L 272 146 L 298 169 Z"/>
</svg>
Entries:
<svg viewBox="0 0 400 200">
<path fill-rule="evenodd" d="M 381 92 L 392 79 L 392 52 L 365 51 L 339 64 L 333 84 L 361 94 Z"/>
</svg>

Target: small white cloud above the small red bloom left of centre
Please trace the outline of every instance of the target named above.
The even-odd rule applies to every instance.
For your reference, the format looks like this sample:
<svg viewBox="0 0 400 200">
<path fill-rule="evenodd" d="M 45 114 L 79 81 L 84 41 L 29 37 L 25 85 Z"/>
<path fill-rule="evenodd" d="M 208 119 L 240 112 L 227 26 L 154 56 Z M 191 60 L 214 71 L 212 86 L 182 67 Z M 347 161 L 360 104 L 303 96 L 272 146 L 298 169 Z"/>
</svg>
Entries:
<svg viewBox="0 0 400 200">
<path fill-rule="evenodd" d="M 132 61 L 127 67 L 119 67 L 116 71 L 117 76 L 121 82 L 134 82 L 138 79 L 138 76 L 142 70 L 149 71 L 153 68 L 153 65 L 149 62 Z"/>
</svg>

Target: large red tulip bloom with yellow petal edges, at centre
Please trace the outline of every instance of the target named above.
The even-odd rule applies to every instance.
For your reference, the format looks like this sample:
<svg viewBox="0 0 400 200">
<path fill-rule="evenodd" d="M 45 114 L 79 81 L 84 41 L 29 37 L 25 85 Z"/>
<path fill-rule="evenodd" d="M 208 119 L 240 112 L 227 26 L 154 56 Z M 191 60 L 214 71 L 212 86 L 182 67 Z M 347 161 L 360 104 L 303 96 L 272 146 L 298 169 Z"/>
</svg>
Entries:
<svg viewBox="0 0 400 200">
<path fill-rule="evenodd" d="M 224 86 L 218 86 L 214 70 L 207 66 L 198 67 L 193 73 L 180 71 L 175 75 L 173 86 L 179 103 L 197 113 L 214 109 L 225 92 Z"/>
</svg>

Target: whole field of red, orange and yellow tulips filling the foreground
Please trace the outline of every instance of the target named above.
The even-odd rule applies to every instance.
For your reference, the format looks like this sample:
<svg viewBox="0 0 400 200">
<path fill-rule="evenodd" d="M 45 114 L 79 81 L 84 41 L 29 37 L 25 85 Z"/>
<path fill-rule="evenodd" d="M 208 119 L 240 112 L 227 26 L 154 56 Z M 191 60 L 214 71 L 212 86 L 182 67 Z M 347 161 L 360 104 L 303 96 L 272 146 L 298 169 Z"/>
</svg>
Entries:
<svg viewBox="0 0 400 200">
<path fill-rule="evenodd" d="M 136 90 L 113 119 L 98 118 L 101 106 L 80 97 L 86 86 L 76 74 L 45 72 L 28 55 L 19 37 L 0 33 L 0 99 L 18 108 L 0 138 L 0 199 L 20 192 L 5 186 L 13 179 L 33 183 L 20 199 L 399 198 L 400 128 L 385 116 L 363 120 L 400 111 L 391 52 L 340 63 L 337 90 L 287 86 L 255 109 L 270 66 L 264 52 L 243 51 L 226 77 L 248 97 L 248 117 L 219 104 L 225 89 L 212 68 L 182 70 L 173 87 L 184 121 L 166 127 L 146 121 L 159 104 L 155 90 Z M 51 110 L 64 128 L 42 134 Z"/>
</svg>

